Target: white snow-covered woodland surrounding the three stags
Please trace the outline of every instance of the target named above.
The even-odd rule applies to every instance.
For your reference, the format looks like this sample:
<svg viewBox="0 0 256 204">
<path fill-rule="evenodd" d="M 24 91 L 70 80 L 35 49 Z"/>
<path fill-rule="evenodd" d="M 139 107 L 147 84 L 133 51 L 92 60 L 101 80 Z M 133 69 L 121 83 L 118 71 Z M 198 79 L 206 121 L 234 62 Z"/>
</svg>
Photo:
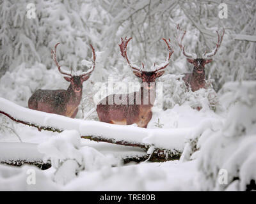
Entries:
<svg viewBox="0 0 256 204">
<path fill-rule="evenodd" d="M 36 18 L 28 18 L 28 4 Z M 219 18 L 220 3 L 228 18 Z M 43 1 L 3 0 L 0 3 L 0 109 L 17 118 L 65 127 L 67 131 L 39 132 L 0 115 L 0 162 L 26 159 L 51 161 L 40 170 L 0 164 L 0 190 L 85 191 L 245 191 L 256 181 L 256 4 L 254 1 Z M 192 70 L 181 54 L 176 25 L 187 31 L 184 45 L 202 55 L 225 27 L 220 50 L 205 65 L 206 90 L 186 92 L 177 80 Z M 170 38 L 174 53 L 163 77 L 163 110 L 154 112 L 147 129 L 98 122 L 97 113 L 84 120 L 97 104 L 97 82 L 138 82 L 120 55 L 120 38 L 132 36 L 132 62 L 149 68 L 166 57 L 161 38 Z M 60 42 L 63 68 L 86 69 L 90 43 L 97 54 L 96 68 L 83 84 L 76 119 L 28 110 L 36 89 L 67 89 L 51 59 Z M 118 92 L 118 89 L 115 90 Z M 6 101 L 8 100 L 8 101 Z M 12 101 L 12 102 L 10 102 Z M 24 108 L 22 108 L 22 107 Z M 201 106 L 200 111 L 196 110 Z M 59 120 L 61 119 L 61 120 Z M 62 121 L 61 123 L 59 121 Z M 157 125 L 157 122 L 161 126 Z M 180 160 L 122 164 L 129 156 L 143 156 L 140 148 L 81 139 L 107 135 L 183 151 Z M 28 185 L 28 170 L 36 184 Z M 222 173 L 221 173 L 222 172 Z M 224 173 L 223 173 L 224 172 Z M 227 179 L 223 175 L 227 173 Z M 252 185 L 251 185 L 252 186 Z"/>
</svg>

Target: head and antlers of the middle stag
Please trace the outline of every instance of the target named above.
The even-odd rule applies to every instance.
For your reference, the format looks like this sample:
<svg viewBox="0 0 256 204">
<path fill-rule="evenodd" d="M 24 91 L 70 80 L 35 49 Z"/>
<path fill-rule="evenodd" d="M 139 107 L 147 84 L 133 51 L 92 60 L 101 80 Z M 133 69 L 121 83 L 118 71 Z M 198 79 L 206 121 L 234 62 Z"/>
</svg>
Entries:
<svg viewBox="0 0 256 204">
<path fill-rule="evenodd" d="M 132 38 L 129 38 L 127 40 L 127 37 L 125 37 L 124 39 L 121 38 L 121 43 L 119 45 L 120 47 L 120 51 L 122 54 L 122 57 L 124 57 L 124 59 L 126 60 L 127 64 L 129 65 L 129 67 L 133 70 L 133 73 L 136 77 L 141 78 L 142 82 L 143 82 L 143 87 L 145 89 L 152 89 L 155 87 L 155 83 L 156 83 L 156 78 L 161 77 L 164 74 L 164 68 L 166 68 L 166 66 L 168 66 L 169 61 L 170 61 L 170 57 L 173 54 L 173 49 L 170 46 L 170 39 L 169 41 L 164 40 L 164 42 L 166 43 L 167 47 L 168 47 L 168 58 L 166 59 L 166 61 L 161 64 L 161 66 L 156 66 L 156 63 L 154 63 L 154 71 L 143 71 L 144 69 L 144 64 L 142 63 L 142 68 L 139 68 L 138 66 L 132 64 L 128 57 L 127 57 L 127 44 L 129 43 L 129 41 Z"/>
</svg>

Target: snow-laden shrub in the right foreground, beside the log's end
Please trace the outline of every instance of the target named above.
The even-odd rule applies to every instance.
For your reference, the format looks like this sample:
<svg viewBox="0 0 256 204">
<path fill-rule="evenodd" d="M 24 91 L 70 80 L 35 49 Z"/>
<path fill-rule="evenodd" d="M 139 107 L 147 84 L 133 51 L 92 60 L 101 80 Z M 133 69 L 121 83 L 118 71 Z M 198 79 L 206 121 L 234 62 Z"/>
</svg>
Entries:
<svg viewBox="0 0 256 204">
<path fill-rule="evenodd" d="M 227 119 L 218 126 L 204 126 L 197 144 L 200 151 L 192 156 L 198 158 L 201 188 L 256 189 L 256 82 L 230 82 L 221 92 Z"/>
</svg>

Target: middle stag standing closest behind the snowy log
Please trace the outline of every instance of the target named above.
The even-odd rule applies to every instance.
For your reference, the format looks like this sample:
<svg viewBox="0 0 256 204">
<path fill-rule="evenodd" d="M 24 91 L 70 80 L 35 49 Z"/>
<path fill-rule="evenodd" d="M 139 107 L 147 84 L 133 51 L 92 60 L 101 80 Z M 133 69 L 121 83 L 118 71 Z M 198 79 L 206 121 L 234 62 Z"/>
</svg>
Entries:
<svg viewBox="0 0 256 204">
<path fill-rule="evenodd" d="M 138 127 L 147 128 L 148 122 L 152 118 L 151 108 L 155 101 L 156 78 L 163 75 L 163 69 L 168 66 L 173 49 L 170 47 L 170 39 L 167 41 L 163 38 L 169 52 L 166 62 L 161 64 L 161 66 L 156 66 L 156 63 L 154 63 L 154 71 L 143 71 L 138 66 L 131 64 L 127 57 L 127 44 L 131 39 L 121 38 L 122 42 L 119 47 L 122 57 L 124 57 L 134 75 L 141 78 L 141 88 L 138 92 L 130 94 L 112 94 L 107 96 L 97 105 L 97 113 L 99 120 L 102 122 L 122 125 L 136 123 Z M 142 68 L 144 68 L 143 64 Z"/>
</svg>

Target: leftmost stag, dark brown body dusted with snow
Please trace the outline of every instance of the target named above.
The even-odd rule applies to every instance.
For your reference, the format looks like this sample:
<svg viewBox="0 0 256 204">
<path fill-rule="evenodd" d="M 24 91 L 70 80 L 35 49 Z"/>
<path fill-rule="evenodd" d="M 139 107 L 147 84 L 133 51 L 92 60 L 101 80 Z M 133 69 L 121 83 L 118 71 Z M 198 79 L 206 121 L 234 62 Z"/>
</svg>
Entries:
<svg viewBox="0 0 256 204">
<path fill-rule="evenodd" d="M 40 110 L 47 113 L 55 113 L 65 115 L 67 117 L 76 117 L 78 106 L 82 98 L 83 82 L 88 80 L 95 68 L 95 50 L 92 48 L 92 67 L 81 75 L 72 75 L 61 71 L 61 66 L 58 64 L 56 57 L 56 49 L 60 43 L 57 43 L 52 50 L 52 59 L 55 62 L 61 74 L 67 75 L 65 80 L 70 82 L 67 90 L 42 90 L 38 89 L 28 100 L 28 107 L 33 110 Z"/>
</svg>

